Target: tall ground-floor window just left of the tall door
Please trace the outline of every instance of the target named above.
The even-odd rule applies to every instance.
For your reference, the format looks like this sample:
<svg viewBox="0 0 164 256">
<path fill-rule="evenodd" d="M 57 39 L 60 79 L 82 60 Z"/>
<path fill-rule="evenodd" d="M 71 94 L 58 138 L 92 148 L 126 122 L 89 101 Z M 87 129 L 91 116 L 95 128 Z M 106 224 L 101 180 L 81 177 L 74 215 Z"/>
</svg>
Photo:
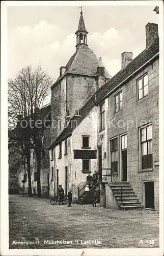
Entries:
<svg viewBox="0 0 164 256">
<path fill-rule="evenodd" d="M 118 172 L 118 142 L 117 138 L 111 140 L 111 167 Z"/>
</svg>

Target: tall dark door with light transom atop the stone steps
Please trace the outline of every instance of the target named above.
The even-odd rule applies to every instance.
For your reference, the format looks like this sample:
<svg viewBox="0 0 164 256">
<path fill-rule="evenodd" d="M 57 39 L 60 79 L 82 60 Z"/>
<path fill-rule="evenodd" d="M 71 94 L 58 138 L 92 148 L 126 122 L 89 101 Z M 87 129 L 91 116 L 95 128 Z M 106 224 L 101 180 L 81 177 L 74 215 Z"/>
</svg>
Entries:
<svg viewBox="0 0 164 256">
<path fill-rule="evenodd" d="M 127 134 L 121 136 L 121 170 L 122 181 L 127 181 Z"/>
</svg>

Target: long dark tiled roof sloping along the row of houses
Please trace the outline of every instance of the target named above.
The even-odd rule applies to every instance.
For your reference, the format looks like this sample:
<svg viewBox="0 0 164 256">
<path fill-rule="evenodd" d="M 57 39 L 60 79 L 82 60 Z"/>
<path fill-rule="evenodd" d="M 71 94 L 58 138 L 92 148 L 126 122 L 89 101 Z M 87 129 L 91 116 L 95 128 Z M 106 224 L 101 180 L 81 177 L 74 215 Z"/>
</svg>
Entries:
<svg viewBox="0 0 164 256">
<path fill-rule="evenodd" d="M 149 48 L 140 53 L 134 58 L 129 65 L 123 70 L 120 70 L 115 76 L 113 76 L 108 82 L 100 87 L 95 94 L 86 102 L 86 104 L 80 109 L 79 114 L 81 115 L 81 121 L 90 113 L 94 106 L 107 97 L 114 88 L 123 82 L 126 78 L 132 75 L 135 71 L 140 69 L 147 61 L 153 58 L 159 52 L 159 38 L 155 39 Z M 96 99 L 95 99 L 96 98 Z M 69 125 L 53 142 L 52 146 L 58 145 L 60 141 L 71 135 L 74 129 Z"/>
</svg>

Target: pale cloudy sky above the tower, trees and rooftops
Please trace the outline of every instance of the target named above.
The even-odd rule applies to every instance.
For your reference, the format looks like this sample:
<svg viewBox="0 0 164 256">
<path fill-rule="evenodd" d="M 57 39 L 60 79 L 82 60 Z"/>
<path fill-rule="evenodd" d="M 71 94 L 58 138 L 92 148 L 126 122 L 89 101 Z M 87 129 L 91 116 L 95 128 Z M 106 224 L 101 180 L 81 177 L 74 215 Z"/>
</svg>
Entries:
<svg viewBox="0 0 164 256">
<path fill-rule="evenodd" d="M 88 47 L 112 76 L 121 69 L 121 54 L 133 58 L 145 49 L 147 23 L 157 23 L 155 6 L 84 6 Z M 8 77 L 28 65 L 54 78 L 75 52 L 78 6 L 8 7 Z"/>
</svg>

